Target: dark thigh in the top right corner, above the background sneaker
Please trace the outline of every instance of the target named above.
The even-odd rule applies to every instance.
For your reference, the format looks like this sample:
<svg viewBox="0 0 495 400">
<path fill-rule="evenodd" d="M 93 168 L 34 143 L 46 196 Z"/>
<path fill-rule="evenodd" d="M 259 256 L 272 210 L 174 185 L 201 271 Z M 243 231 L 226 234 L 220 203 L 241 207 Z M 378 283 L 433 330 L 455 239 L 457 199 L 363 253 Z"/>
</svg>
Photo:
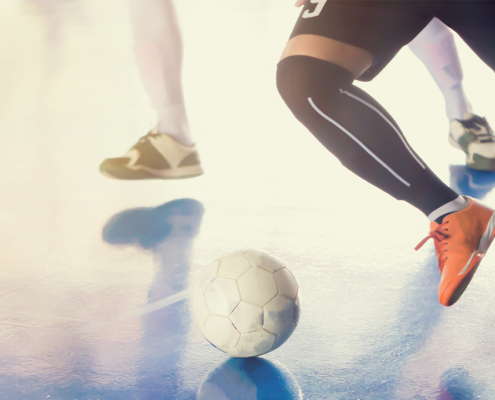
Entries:
<svg viewBox="0 0 495 400">
<path fill-rule="evenodd" d="M 469 47 L 495 71 L 495 1 L 439 3 L 438 18 L 456 31 Z"/>
</svg>

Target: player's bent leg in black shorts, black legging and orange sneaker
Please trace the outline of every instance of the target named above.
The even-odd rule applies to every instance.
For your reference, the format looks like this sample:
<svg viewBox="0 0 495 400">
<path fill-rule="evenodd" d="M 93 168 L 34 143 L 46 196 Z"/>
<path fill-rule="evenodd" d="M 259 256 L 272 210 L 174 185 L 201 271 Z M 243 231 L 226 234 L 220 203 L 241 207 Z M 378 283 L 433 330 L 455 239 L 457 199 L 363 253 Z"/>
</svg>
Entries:
<svg viewBox="0 0 495 400">
<path fill-rule="evenodd" d="M 493 210 L 445 185 L 411 149 L 388 112 L 352 85 L 357 77 L 376 75 L 432 17 L 426 2 L 307 2 L 278 65 L 277 85 L 296 118 L 345 167 L 428 216 L 442 270 L 447 247 L 441 238 L 448 236 L 449 221 L 473 213 L 483 214 L 485 221 Z M 453 242 L 449 248 L 458 241 Z M 442 304 L 459 298 L 472 271 L 470 264 L 459 279 L 442 280 L 449 286 L 439 289 Z"/>
</svg>

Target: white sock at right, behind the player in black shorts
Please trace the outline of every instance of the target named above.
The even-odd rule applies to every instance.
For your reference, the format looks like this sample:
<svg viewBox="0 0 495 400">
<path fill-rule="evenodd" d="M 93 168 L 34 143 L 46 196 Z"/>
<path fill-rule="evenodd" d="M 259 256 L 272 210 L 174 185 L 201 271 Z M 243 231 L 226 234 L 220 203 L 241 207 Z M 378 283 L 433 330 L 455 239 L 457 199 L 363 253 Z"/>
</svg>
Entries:
<svg viewBox="0 0 495 400">
<path fill-rule="evenodd" d="M 423 62 L 445 99 L 450 121 L 472 113 L 471 104 L 462 87 L 462 68 L 455 47 L 454 35 L 434 18 L 414 40 L 411 51 Z"/>
</svg>

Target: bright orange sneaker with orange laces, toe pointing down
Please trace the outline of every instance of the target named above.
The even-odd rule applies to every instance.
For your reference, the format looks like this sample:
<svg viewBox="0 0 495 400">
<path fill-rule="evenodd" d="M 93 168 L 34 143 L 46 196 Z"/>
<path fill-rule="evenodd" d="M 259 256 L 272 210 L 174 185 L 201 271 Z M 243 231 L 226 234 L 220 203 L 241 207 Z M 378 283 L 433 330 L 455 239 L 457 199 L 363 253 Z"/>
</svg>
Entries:
<svg viewBox="0 0 495 400">
<path fill-rule="evenodd" d="M 464 197 L 469 205 L 447 215 L 441 224 L 431 222 L 430 234 L 416 246 L 418 250 L 428 239 L 435 242 L 442 276 L 438 300 L 447 307 L 466 290 L 495 236 L 495 211 Z"/>
</svg>

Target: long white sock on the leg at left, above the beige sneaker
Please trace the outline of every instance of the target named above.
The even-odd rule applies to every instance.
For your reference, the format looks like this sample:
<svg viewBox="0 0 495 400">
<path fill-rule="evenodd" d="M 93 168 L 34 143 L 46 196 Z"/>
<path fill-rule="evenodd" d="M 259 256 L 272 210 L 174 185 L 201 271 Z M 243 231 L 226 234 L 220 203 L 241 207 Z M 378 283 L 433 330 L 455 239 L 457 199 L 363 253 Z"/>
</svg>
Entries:
<svg viewBox="0 0 495 400">
<path fill-rule="evenodd" d="M 130 0 L 136 60 L 158 132 L 193 144 L 181 84 L 182 39 L 172 0 Z"/>
</svg>

